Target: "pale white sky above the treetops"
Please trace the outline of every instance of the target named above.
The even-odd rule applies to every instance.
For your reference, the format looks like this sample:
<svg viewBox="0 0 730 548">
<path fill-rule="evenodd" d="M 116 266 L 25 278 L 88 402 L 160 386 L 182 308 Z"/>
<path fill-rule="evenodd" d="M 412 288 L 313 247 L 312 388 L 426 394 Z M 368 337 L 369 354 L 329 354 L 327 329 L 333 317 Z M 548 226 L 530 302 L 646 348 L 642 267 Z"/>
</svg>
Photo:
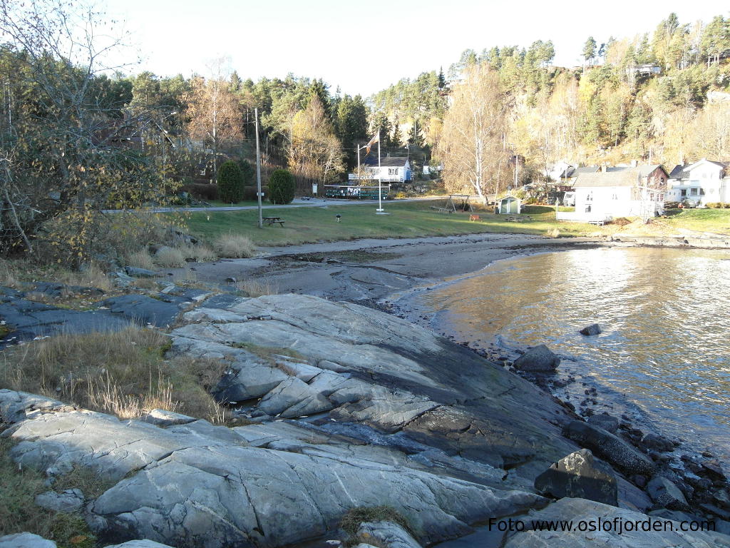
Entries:
<svg viewBox="0 0 730 548">
<path fill-rule="evenodd" d="M 552 40 L 554 63 L 576 66 L 585 40 L 650 32 L 670 12 L 680 23 L 730 16 L 726 0 L 108 0 L 142 64 L 127 72 L 206 75 L 228 56 L 242 78 L 323 78 L 331 91 L 369 96 L 438 70 L 467 48 Z"/>
</svg>

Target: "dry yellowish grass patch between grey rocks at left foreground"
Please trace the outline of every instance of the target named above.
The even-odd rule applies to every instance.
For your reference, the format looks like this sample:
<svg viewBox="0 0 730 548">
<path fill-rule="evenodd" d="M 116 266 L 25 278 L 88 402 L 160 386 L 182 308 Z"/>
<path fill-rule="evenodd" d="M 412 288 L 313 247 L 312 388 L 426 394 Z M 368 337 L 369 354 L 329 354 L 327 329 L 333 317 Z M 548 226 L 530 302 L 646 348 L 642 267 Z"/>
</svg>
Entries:
<svg viewBox="0 0 730 548">
<path fill-rule="evenodd" d="M 57 335 L 0 352 L 0 386 L 43 394 L 129 419 L 153 408 L 225 422 L 209 390 L 222 360 L 164 359 L 169 338 L 155 330 Z"/>
</svg>

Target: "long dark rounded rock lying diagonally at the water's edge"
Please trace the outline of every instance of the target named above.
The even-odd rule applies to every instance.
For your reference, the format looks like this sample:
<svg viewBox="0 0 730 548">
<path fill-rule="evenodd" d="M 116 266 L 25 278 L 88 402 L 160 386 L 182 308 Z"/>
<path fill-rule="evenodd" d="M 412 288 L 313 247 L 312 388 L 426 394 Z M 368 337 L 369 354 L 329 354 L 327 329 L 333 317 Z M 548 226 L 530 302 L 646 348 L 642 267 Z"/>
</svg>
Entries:
<svg viewBox="0 0 730 548">
<path fill-rule="evenodd" d="M 655 465 L 651 460 L 603 428 L 575 420 L 563 434 L 629 475 L 653 475 Z"/>
</svg>

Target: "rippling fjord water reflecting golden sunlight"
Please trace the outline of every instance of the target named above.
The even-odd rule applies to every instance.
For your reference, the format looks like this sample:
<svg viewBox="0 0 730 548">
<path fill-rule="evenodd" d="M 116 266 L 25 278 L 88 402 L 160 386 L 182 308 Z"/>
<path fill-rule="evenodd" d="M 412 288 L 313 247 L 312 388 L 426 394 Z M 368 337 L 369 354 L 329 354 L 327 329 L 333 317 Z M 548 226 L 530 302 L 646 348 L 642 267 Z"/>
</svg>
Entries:
<svg viewBox="0 0 730 548">
<path fill-rule="evenodd" d="M 458 340 L 496 340 L 507 349 L 547 344 L 564 357 L 561 369 L 613 395 L 616 405 L 604 408 L 619 409 L 625 399 L 653 430 L 730 462 L 730 252 L 523 256 L 409 300 Z M 578 334 L 593 322 L 601 335 Z"/>
</svg>

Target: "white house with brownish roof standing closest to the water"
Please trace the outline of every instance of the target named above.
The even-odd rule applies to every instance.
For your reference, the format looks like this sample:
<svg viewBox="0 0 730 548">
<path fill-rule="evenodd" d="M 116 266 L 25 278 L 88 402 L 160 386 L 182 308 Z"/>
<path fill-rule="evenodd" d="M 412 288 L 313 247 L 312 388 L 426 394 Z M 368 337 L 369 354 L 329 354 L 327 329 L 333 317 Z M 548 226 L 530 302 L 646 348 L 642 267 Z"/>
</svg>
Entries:
<svg viewBox="0 0 730 548">
<path fill-rule="evenodd" d="M 664 166 L 602 167 L 575 180 L 575 213 L 558 213 L 564 221 L 604 222 L 616 217 L 648 219 L 664 210 Z"/>
</svg>

